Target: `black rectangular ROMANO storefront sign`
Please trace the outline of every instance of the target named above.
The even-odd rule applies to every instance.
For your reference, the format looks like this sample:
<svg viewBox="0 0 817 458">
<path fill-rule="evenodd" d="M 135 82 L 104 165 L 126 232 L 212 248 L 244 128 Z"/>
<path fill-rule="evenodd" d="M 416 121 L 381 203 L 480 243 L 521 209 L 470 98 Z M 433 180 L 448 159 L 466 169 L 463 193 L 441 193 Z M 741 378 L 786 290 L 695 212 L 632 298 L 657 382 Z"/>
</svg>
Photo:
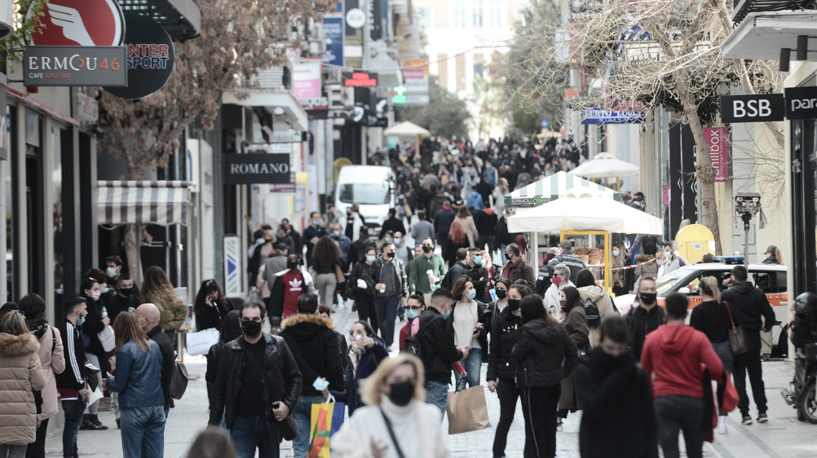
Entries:
<svg viewBox="0 0 817 458">
<path fill-rule="evenodd" d="M 290 155 L 263 152 L 224 155 L 224 183 L 291 183 Z"/>
</svg>

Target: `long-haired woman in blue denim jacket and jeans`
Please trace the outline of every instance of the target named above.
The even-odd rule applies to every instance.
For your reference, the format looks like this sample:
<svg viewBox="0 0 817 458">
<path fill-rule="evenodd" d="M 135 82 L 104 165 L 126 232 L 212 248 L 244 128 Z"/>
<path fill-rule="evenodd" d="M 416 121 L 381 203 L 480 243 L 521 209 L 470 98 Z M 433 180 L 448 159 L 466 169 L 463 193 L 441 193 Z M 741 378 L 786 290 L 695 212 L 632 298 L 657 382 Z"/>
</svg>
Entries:
<svg viewBox="0 0 817 458">
<path fill-rule="evenodd" d="M 114 321 L 116 356 L 105 387 L 119 394 L 124 458 L 164 456 L 162 352 L 148 339 L 136 315 L 123 311 Z"/>
</svg>

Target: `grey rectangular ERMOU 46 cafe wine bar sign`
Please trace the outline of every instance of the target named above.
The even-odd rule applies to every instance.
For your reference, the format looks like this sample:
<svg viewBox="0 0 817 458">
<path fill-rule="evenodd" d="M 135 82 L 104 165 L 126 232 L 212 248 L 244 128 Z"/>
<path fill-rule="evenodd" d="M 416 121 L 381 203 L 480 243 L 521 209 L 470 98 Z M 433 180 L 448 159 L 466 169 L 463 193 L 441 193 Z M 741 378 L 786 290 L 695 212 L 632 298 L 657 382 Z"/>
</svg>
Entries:
<svg viewBox="0 0 817 458">
<path fill-rule="evenodd" d="M 25 86 L 127 86 L 124 46 L 29 46 Z"/>
</svg>

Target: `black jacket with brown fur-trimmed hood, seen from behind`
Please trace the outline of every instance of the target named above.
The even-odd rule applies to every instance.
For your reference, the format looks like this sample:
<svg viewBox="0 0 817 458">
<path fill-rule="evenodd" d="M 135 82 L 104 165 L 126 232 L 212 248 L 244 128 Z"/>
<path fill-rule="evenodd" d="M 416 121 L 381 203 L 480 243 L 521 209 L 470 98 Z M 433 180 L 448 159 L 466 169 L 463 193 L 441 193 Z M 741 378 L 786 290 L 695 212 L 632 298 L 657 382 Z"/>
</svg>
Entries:
<svg viewBox="0 0 817 458">
<path fill-rule="evenodd" d="M 344 355 L 331 319 L 299 313 L 284 319 L 281 328 L 280 337 L 292 350 L 304 378 L 301 396 L 322 395 L 312 386 L 318 377 L 329 382 L 329 390 L 346 390 Z"/>
</svg>

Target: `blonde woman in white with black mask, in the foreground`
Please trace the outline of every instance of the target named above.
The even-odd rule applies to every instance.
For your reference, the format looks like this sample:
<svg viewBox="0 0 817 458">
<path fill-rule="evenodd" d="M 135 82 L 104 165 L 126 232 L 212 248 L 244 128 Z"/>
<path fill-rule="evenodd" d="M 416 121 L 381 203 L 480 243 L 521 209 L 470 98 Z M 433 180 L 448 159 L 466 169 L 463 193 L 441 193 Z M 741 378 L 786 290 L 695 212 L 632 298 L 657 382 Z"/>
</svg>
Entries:
<svg viewBox="0 0 817 458">
<path fill-rule="evenodd" d="M 449 456 L 440 410 L 426 403 L 423 365 L 413 355 L 385 359 L 368 377 L 363 402 L 332 438 L 333 458 Z"/>
</svg>

